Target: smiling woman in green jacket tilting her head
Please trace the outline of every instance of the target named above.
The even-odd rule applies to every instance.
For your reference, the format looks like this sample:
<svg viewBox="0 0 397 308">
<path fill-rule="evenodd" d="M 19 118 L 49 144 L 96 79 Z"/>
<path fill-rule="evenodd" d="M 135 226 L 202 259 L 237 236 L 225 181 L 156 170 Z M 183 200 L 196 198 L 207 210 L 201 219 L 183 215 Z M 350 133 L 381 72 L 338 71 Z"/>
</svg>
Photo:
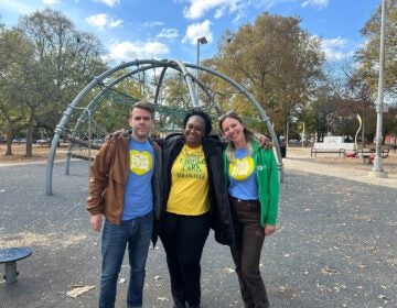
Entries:
<svg viewBox="0 0 397 308">
<path fill-rule="evenodd" d="M 258 147 L 254 133 L 236 112 L 222 116 L 219 128 L 228 143 L 223 158 L 236 232 L 236 245 L 230 251 L 244 307 L 269 307 L 259 261 L 265 237 L 276 231 L 279 195 L 276 158 L 271 150 Z"/>
</svg>

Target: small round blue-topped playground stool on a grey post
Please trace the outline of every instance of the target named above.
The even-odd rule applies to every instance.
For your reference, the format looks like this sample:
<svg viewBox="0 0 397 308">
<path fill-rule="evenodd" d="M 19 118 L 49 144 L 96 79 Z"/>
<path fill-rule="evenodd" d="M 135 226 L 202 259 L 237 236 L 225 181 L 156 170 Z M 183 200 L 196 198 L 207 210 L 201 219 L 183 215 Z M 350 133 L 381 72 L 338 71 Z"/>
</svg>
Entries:
<svg viewBox="0 0 397 308">
<path fill-rule="evenodd" d="M 17 261 L 25 258 L 32 254 L 29 248 L 10 248 L 0 250 L 0 264 L 4 263 L 6 284 L 10 285 L 17 282 Z"/>
</svg>

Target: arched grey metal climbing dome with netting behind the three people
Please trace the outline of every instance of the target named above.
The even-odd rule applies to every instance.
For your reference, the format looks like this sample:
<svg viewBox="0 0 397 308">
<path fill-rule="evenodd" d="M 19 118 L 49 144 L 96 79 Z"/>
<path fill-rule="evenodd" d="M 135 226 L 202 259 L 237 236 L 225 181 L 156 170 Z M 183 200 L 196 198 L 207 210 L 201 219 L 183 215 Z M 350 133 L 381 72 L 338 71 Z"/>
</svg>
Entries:
<svg viewBox="0 0 397 308">
<path fill-rule="evenodd" d="M 224 86 L 218 87 L 219 84 Z M 172 91 L 181 89 L 179 96 L 171 96 Z M 107 128 L 114 129 L 109 124 L 110 119 L 117 118 L 118 128 L 125 128 L 130 107 L 139 100 L 153 103 L 155 122 L 160 127 L 154 132 L 157 135 L 181 130 L 180 121 L 189 108 L 204 109 L 214 122 L 228 110 L 247 111 L 247 114 L 242 116 L 248 127 L 264 130 L 266 125 L 275 146 L 282 182 L 282 161 L 277 135 L 265 110 L 245 87 L 210 67 L 176 59 L 142 59 L 120 64 L 95 77 L 68 105 L 55 128 L 51 144 L 45 185 L 47 196 L 53 194 L 53 165 L 61 138 L 69 142 L 65 164 L 65 174 L 68 174 L 71 158 L 92 161 L 98 144 L 111 132 Z"/>
</svg>

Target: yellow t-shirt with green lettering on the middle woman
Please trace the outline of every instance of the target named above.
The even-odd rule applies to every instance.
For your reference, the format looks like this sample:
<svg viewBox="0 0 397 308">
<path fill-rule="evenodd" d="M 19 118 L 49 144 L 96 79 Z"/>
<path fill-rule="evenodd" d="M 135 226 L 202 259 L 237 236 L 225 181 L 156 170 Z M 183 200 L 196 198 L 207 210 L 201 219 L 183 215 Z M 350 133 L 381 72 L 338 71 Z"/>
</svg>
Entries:
<svg viewBox="0 0 397 308">
<path fill-rule="evenodd" d="M 183 145 L 171 168 L 167 211 L 198 216 L 208 210 L 208 174 L 203 146 L 191 148 Z"/>
</svg>

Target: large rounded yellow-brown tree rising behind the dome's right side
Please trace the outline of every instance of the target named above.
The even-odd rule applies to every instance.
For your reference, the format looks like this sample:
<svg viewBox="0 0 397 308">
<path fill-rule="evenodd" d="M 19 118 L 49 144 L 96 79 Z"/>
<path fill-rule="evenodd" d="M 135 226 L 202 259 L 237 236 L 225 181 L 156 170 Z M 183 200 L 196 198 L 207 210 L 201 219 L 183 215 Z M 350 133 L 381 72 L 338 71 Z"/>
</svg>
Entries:
<svg viewBox="0 0 397 308">
<path fill-rule="evenodd" d="M 246 87 L 283 134 L 291 113 L 309 101 L 324 61 L 320 40 L 303 31 L 300 22 L 265 12 L 236 33 L 226 31 L 208 62 Z"/>
</svg>

